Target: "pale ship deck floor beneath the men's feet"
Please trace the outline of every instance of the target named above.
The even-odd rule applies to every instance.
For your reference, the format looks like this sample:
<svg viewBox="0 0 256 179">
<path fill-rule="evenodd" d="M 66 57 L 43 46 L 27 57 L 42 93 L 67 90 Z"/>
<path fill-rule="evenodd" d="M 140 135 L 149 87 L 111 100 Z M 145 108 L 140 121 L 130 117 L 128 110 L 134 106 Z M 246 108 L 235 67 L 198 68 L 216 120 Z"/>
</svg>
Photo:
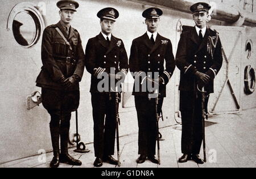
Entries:
<svg viewBox="0 0 256 179">
<path fill-rule="evenodd" d="M 177 162 L 182 155 L 180 125 L 160 129 L 164 139 L 160 141 L 161 165 L 152 164 L 150 161 L 137 164 L 138 134 L 121 137 L 121 168 L 254 168 L 256 167 L 255 113 L 256 109 L 250 109 L 238 114 L 219 114 L 210 117 L 205 128 L 208 162 L 203 165 L 193 161 L 184 164 Z M 82 161 L 80 168 L 93 168 L 95 159 L 93 143 L 86 144 L 86 148 L 90 150 L 87 154 L 77 154 L 73 152 L 74 148 L 69 149 L 69 154 Z M 203 157 L 203 152 L 200 156 Z M 0 164 L 0 168 L 48 168 L 52 153 L 46 154 L 46 163 L 39 163 L 40 157 L 32 156 Z M 60 168 L 77 167 L 60 164 Z M 104 163 L 103 168 L 118 167 Z"/>
</svg>

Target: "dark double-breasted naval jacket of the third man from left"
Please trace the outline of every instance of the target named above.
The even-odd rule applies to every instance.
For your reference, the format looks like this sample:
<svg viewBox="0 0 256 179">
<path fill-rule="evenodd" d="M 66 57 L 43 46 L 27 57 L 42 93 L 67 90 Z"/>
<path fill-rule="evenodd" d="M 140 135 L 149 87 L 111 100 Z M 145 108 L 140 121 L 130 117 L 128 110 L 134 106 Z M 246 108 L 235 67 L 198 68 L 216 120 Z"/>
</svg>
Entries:
<svg viewBox="0 0 256 179">
<path fill-rule="evenodd" d="M 164 66 L 166 63 L 166 66 Z M 149 78 L 155 78 L 154 73 L 158 73 L 164 80 L 164 85 L 159 86 L 159 93 L 166 96 L 166 85 L 171 79 L 175 70 L 175 58 L 172 53 L 172 44 L 170 39 L 156 36 L 155 44 L 152 44 L 147 33 L 133 40 L 130 55 L 130 71 L 139 76 L 146 73 Z M 152 73 L 153 76 L 150 76 Z M 142 91 L 142 87 L 135 89 L 136 83 L 142 84 L 142 78 L 135 78 L 133 95 L 148 95 L 149 91 Z M 139 80 L 137 82 L 136 80 Z"/>
</svg>

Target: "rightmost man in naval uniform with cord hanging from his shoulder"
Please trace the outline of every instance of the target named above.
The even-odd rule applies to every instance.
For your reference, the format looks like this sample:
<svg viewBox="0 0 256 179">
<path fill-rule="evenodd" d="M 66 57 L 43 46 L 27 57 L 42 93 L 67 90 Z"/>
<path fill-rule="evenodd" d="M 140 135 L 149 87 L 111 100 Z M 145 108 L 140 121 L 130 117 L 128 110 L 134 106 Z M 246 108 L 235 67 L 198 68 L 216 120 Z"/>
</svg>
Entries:
<svg viewBox="0 0 256 179">
<path fill-rule="evenodd" d="M 204 87 L 207 91 L 207 109 L 209 94 L 213 93 L 214 78 L 222 66 L 220 38 L 217 32 L 207 28 L 210 8 L 207 3 L 191 6 L 196 26 L 183 31 L 177 49 L 176 63 L 181 71 L 181 151 L 184 154 L 179 159 L 180 163 L 185 163 L 191 158 L 198 164 L 204 163 L 199 156 L 203 140 L 202 94 L 199 90 Z"/>
</svg>

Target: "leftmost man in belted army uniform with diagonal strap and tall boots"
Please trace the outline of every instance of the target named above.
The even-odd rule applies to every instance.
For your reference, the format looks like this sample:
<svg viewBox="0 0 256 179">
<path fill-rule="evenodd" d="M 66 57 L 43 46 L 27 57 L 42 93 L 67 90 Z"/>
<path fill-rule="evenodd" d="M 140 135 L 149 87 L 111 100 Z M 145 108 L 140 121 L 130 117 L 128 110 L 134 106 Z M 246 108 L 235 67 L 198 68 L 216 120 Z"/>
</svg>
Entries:
<svg viewBox="0 0 256 179">
<path fill-rule="evenodd" d="M 60 22 L 49 25 L 44 30 L 43 67 L 36 80 L 36 86 L 42 87 L 43 106 L 51 115 L 50 131 L 54 155 L 50 164 L 52 168 L 59 167 L 59 163 L 82 164 L 68 154 L 71 112 L 79 107 L 79 82 L 84 73 L 84 51 L 80 35 L 71 27 L 79 3 L 59 1 L 57 7 L 60 8 Z"/>
</svg>

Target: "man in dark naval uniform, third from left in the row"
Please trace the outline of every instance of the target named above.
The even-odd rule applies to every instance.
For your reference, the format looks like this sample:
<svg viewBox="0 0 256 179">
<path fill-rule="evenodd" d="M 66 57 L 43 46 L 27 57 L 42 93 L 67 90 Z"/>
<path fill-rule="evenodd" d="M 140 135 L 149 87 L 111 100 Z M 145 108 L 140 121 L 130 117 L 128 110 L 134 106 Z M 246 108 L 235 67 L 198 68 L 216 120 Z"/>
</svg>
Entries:
<svg viewBox="0 0 256 179">
<path fill-rule="evenodd" d="M 166 85 L 175 70 L 175 58 L 172 53 L 171 40 L 158 33 L 160 16 L 163 11 L 159 8 L 148 8 L 142 14 L 146 18 L 147 32 L 133 40 L 130 56 L 130 71 L 134 75 L 135 84 L 133 95 L 137 109 L 139 125 L 139 158 L 141 164 L 146 159 L 158 164 L 155 158 L 156 137 L 158 135 L 155 114 L 155 90 L 159 90 L 159 109 L 162 110 L 163 99 L 166 97 Z M 164 68 L 166 62 L 166 68 Z M 139 86 L 137 86 L 139 84 Z M 143 87 L 148 86 L 147 90 Z M 152 85 L 151 85 L 152 84 Z M 153 87 L 154 88 L 151 88 Z M 155 88 L 156 87 L 156 88 Z M 150 99 L 150 96 L 152 99 Z"/>
</svg>

